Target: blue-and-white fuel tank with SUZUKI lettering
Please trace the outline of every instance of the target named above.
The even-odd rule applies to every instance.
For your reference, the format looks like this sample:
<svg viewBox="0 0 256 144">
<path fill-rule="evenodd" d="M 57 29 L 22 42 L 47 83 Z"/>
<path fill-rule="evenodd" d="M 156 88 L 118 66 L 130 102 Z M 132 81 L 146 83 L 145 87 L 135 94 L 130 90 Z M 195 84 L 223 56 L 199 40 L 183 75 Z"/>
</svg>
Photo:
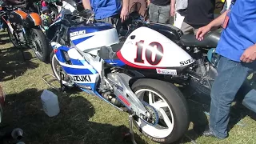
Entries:
<svg viewBox="0 0 256 144">
<path fill-rule="evenodd" d="M 112 25 L 103 22 L 70 27 L 68 37 L 79 50 L 94 55 L 98 54 L 102 46 L 111 46 L 119 42 L 117 30 Z"/>
</svg>

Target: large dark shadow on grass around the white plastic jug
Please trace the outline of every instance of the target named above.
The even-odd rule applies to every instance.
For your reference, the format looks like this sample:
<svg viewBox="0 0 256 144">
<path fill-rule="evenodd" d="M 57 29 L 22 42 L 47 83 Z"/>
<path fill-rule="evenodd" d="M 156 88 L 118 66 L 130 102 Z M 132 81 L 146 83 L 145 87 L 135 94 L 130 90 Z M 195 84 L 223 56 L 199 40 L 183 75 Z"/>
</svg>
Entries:
<svg viewBox="0 0 256 144">
<path fill-rule="evenodd" d="M 51 90 L 58 95 L 60 114 L 50 118 L 42 110 L 42 90 L 27 89 L 19 94 L 7 94 L 2 125 L 4 130 L 16 127 L 25 133 L 23 142 L 38 144 L 112 144 L 131 143 L 123 141 L 122 135 L 129 131 L 126 126 L 112 126 L 90 122 L 94 106 L 79 95 L 69 97 Z M 144 141 L 138 139 L 138 143 Z"/>
</svg>

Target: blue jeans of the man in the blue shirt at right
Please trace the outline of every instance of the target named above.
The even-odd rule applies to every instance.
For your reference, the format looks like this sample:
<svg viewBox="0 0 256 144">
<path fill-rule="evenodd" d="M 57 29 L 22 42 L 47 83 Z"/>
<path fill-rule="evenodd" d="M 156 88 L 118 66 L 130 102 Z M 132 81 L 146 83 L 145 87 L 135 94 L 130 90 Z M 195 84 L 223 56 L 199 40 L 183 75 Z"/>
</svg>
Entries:
<svg viewBox="0 0 256 144">
<path fill-rule="evenodd" d="M 234 62 L 221 57 L 218 63 L 218 76 L 214 80 L 210 93 L 210 130 L 217 138 L 228 136 L 227 126 L 230 120 L 230 106 L 250 70 L 256 68 L 256 62 Z M 256 90 L 250 90 L 242 104 L 256 110 Z"/>
</svg>

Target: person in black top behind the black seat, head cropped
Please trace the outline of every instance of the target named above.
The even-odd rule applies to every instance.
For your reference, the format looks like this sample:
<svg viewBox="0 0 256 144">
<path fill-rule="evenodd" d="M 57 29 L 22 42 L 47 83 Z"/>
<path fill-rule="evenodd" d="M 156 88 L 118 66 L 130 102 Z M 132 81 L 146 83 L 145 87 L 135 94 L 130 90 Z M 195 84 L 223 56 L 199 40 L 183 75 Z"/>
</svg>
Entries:
<svg viewBox="0 0 256 144">
<path fill-rule="evenodd" d="M 214 20 L 215 0 L 188 0 L 186 14 L 182 22 L 184 34 L 196 34 L 199 27 Z"/>
</svg>

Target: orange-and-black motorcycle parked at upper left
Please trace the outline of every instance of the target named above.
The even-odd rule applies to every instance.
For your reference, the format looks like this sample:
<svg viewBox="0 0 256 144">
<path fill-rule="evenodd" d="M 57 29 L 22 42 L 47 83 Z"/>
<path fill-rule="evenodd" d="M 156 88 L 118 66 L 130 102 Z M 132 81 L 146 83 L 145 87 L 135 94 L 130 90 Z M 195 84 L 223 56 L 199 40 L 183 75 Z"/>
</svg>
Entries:
<svg viewBox="0 0 256 144">
<path fill-rule="evenodd" d="M 5 3 L 0 6 L 0 17 L 6 22 L 10 41 L 20 50 L 30 47 L 39 60 L 46 62 L 50 55 L 50 46 L 46 35 L 40 29 L 42 20 L 37 13 L 19 7 L 25 6 Z"/>
</svg>

